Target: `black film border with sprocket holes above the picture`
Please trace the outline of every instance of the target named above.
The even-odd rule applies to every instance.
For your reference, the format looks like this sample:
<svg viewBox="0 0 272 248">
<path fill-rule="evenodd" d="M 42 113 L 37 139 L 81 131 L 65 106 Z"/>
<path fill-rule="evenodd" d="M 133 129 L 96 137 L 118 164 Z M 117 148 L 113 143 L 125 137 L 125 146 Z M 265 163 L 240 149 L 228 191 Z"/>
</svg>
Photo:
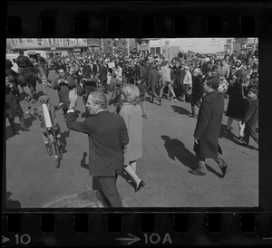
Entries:
<svg viewBox="0 0 272 248">
<path fill-rule="evenodd" d="M 211 2 L 203 9 L 198 2 L 183 5 L 175 2 L 156 5 L 102 2 L 64 7 L 61 3 L 30 2 L 24 5 L 24 2 L 10 2 L 7 5 L 7 35 L 102 38 L 258 36 L 269 12 L 269 8 L 258 3 L 229 5 Z"/>
</svg>

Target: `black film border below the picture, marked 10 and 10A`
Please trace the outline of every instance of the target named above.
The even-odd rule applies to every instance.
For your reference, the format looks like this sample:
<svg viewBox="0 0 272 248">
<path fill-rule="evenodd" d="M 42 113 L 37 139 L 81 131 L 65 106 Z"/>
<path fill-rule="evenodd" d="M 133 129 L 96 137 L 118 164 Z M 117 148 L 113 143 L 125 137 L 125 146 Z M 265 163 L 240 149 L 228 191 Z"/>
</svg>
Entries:
<svg viewBox="0 0 272 248">
<path fill-rule="evenodd" d="M 2 245 L 271 245 L 271 224 L 271 213 L 3 215 Z"/>
</svg>

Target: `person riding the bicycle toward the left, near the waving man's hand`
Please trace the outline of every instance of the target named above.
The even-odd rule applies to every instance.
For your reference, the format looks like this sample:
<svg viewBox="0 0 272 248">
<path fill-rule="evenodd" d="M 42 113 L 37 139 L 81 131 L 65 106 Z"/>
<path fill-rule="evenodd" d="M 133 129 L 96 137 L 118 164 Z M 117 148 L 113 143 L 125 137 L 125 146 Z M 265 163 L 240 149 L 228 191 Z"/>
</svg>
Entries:
<svg viewBox="0 0 272 248">
<path fill-rule="evenodd" d="M 31 108 L 30 108 L 30 110 L 27 111 L 26 113 L 31 115 L 31 116 L 37 116 L 38 119 L 41 121 L 40 126 L 41 126 L 41 129 L 42 129 L 42 136 L 43 136 L 43 139 L 44 139 L 44 145 L 45 145 L 46 151 L 47 151 L 49 156 L 53 156 L 52 144 L 51 144 L 50 138 L 48 136 L 48 129 L 46 128 L 46 124 L 45 124 L 43 104 L 44 103 L 46 104 L 47 109 L 48 109 L 48 111 L 50 113 L 52 126 L 53 126 L 53 129 L 54 129 L 55 133 L 56 133 L 57 142 L 58 142 L 58 145 L 60 147 L 63 147 L 63 143 L 60 140 L 60 138 L 61 138 L 61 129 L 60 129 L 60 126 L 59 126 L 59 124 L 58 124 L 58 122 L 56 120 L 55 111 L 60 110 L 62 107 L 61 107 L 61 105 L 55 106 L 55 105 L 49 103 L 50 97 L 48 97 L 47 95 L 40 96 L 38 100 L 39 100 L 40 104 L 37 106 L 37 108 L 35 108 L 34 110 L 31 110 Z"/>
</svg>

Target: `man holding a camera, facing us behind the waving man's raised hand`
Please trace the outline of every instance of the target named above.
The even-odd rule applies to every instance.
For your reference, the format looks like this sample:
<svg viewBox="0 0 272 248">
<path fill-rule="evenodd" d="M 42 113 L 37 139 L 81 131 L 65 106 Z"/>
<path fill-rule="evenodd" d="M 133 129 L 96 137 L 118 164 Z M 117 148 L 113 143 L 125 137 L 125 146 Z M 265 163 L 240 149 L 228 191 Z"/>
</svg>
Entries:
<svg viewBox="0 0 272 248">
<path fill-rule="evenodd" d="M 73 78 L 65 74 L 63 68 L 58 69 L 59 77 L 53 82 L 53 90 L 58 91 L 59 104 L 62 106 L 64 120 L 69 107 L 69 91 L 76 87 Z"/>
</svg>

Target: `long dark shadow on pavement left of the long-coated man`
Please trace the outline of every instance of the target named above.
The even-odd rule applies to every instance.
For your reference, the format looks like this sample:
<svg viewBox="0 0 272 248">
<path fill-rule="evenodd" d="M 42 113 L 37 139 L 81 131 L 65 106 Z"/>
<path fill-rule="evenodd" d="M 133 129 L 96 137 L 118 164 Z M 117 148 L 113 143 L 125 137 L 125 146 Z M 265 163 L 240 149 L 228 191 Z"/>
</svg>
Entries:
<svg viewBox="0 0 272 248">
<path fill-rule="evenodd" d="M 162 135 L 160 137 L 165 141 L 164 147 L 168 153 L 168 156 L 172 160 L 176 160 L 177 158 L 185 167 L 189 167 L 190 169 L 197 168 L 196 157 L 187 148 L 185 148 L 184 144 L 179 139 L 171 139 L 166 135 Z"/>
</svg>

